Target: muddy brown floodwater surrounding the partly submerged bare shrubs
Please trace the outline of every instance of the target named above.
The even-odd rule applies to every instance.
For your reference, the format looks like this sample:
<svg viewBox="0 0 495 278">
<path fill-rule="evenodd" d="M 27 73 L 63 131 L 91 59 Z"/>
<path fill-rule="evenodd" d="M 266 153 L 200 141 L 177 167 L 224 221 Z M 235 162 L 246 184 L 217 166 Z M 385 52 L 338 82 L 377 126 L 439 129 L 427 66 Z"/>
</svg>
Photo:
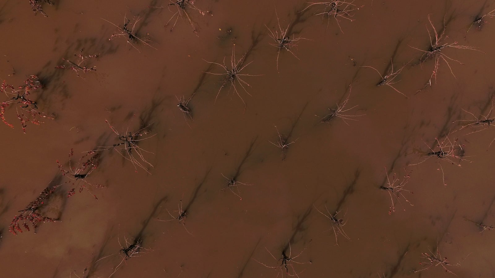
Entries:
<svg viewBox="0 0 495 278">
<path fill-rule="evenodd" d="M 495 231 L 474 223 L 495 225 L 495 133 L 455 122 L 473 119 L 462 109 L 491 109 L 495 18 L 467 31 L 493 3 L 355 0 L 352 21 L 338 17 L 339 28 L 314 15 L 320 5 L 301 12 L 304 1 L 198 0 L 204 15 L 186 6 L 197 34 L 183 13 L 172 32 L 175 18 L 164 26 L 177 11 L 168 3 L 59 0 L 42 3 L 48 17 L 27 1 L 0 3 L 0 78 L 19 86 L 38 75 L 45 88 L 32 96 L 54 117 L 23 134 L 18 104 L 6 108 L 14 128 L 0 126 L 0 277 L 495 277 Z M 435 66 L 418 64 L 424 52 L 413 48 L 431 46 L 429 14 L 439 36 L 445 18 L 442 44 L 477 50 L 441 49 L 436 82 L 417 93 Z M 269 32 L 277 15 L 283 30 L 295 22 L 291 39 L 304 38 L 290 49 L 297 58 L 280 52 L 278 70 Z M 128 35 L 109 41 L 125 17 L 128 28 L 139 17 L 130 30 L 148 45 Z M 224 57 L 230 69 L 234 45 L 236 61 L 247 53 L 238 74 L 251 75 L 238 75 L 240 96 L 230 83 L 218 93 L 224 76 L 203 73 L 225 73 L 208 63 Z M 54 68 L 82 48 L 99 55 L 82 64 L 97 71 Z M 364 67 L 385 75 L 391 58 L 394 70 L 407 64 L 390 84 L 408 98 L 376 86 L 380 75 Z M 192 94 L 193 120 L 177 107 Z M 319 123 L 347 96 L 353 108 L 342 113 L 356 121 Z M 120 141 L 105 120 L 121 135 L 146 127 L 140 138 L 152 137 L 135 142 L 153 167 L 136 171 L 122 146 L 113 150 Z M 275 126 L 293 142 L 285 159 L 270 143 Z M 439 150 L 435 138 L 464 156 L 422 162 L 429 147 Z M 76 162 L 98 146 L 110 149 L 88 177 L 61 176 L 57 159 L 67 169 L 71 148 Z M 380 186 L 394 173 L 400 181 L 409 173 L 401 192 L 413 206 L 394 198 L 389 215 L 391 195 Z M 236 174 L 242 184 L 228 187 L 223 176 Z M 53 185 L 38 211 L 60 222 L 11 234 L 12 218 Z M 77 192 L 81 185 L 91 194 Z M 178 210 L 187 212 L 181 221 Z M 337 211 L 342 227 L 332 226 Z M 136 237 L 142 249 L 126 258 L 121 249 Z"/>
</svg>

